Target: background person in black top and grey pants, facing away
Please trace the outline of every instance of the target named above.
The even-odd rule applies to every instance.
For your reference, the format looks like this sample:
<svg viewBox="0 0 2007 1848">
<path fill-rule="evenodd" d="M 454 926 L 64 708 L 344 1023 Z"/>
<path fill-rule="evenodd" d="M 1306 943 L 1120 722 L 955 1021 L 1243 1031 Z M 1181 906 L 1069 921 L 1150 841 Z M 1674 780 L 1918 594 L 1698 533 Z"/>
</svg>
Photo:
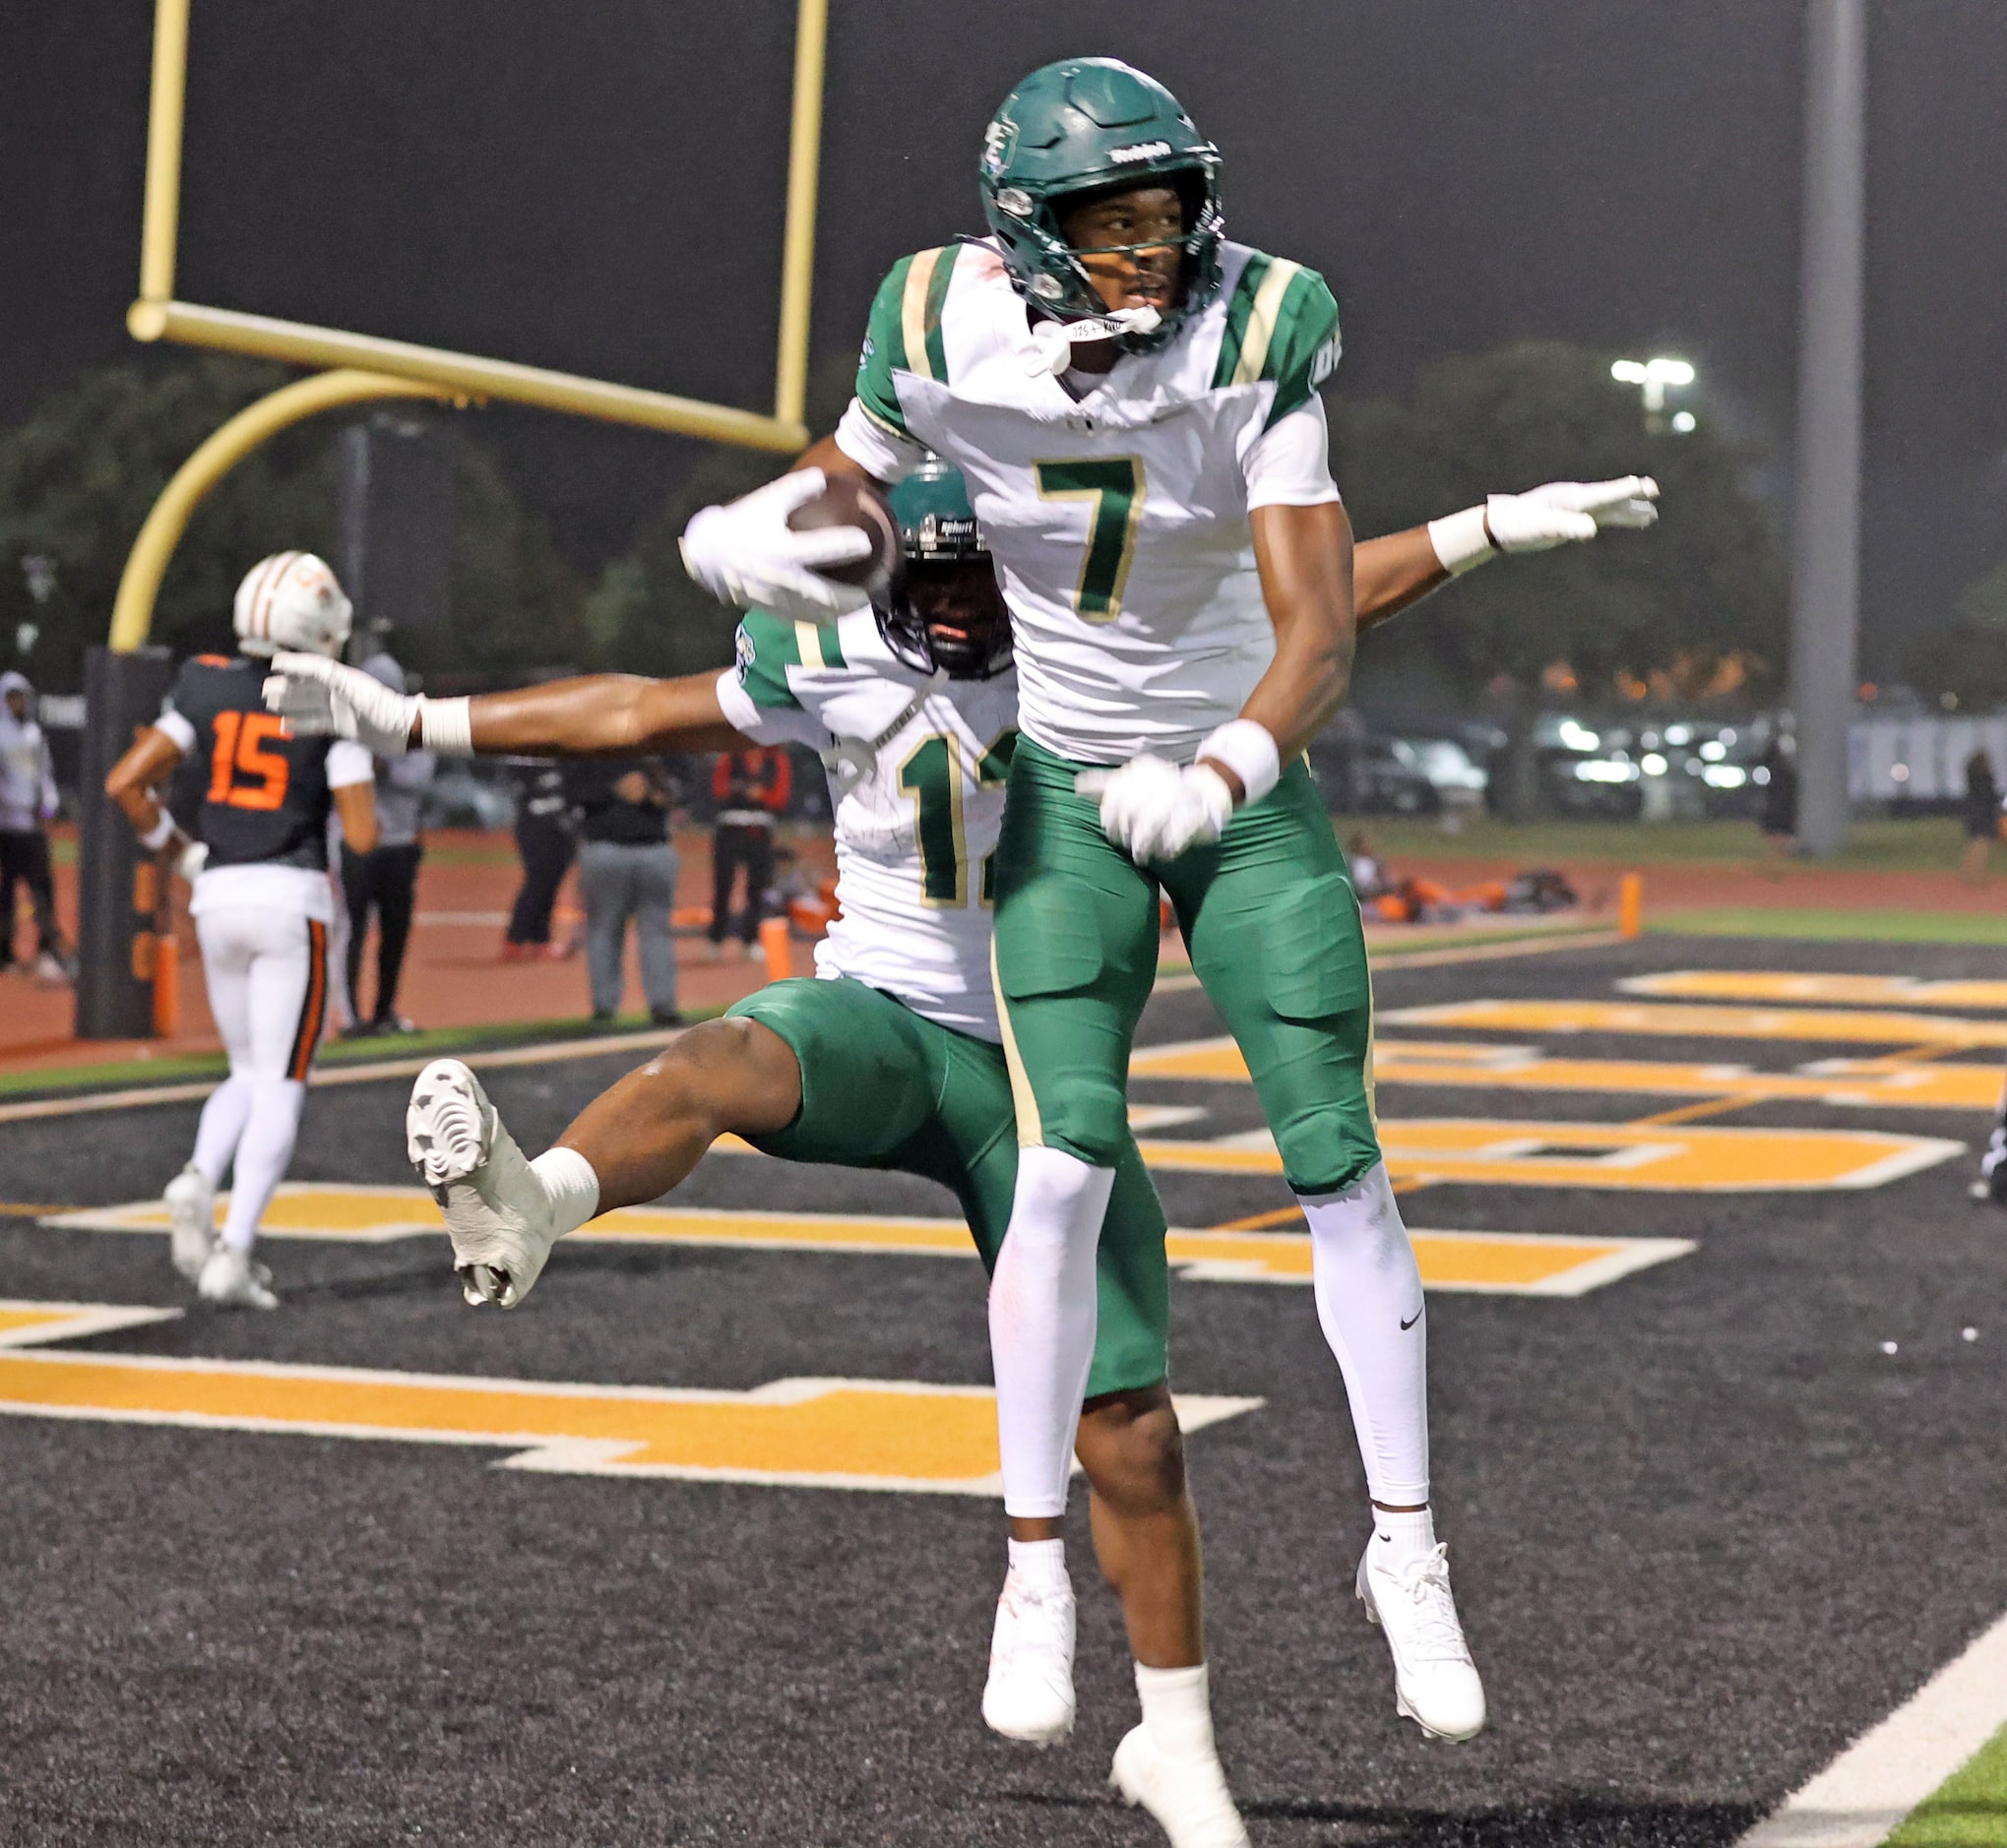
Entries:
<svg viewBox="0 0 2007 1848">
<path fill-rule="evenodd" d="M 620 1011 L 620 961 L 632 917 L 648 1017 L 658 1027 L 680 1025 L 676 939 L 668 933 L 678 873 L 676 849 L 668 845 L 676 805 L 668 771 L 660 758 L 576 758 L 564 766 L 564 793 L 578 811 L 592 1017 L 610 1021 Z"/>
</svg>

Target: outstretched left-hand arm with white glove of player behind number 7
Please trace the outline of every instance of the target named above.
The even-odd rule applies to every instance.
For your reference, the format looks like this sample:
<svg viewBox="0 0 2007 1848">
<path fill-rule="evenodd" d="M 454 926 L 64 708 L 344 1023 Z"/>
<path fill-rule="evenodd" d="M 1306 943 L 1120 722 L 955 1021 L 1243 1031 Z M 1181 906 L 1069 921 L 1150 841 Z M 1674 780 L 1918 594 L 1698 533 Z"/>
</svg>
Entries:
<svg viewBox="0 0 2007 1848">
<path fill-rule="evenodd" d="M 275 654 L 265 704 L 303 732 L 355 738 L 379 756 L 423 746 L 446 756 L 636 756 L 725 750 L 741 734 L 719 704 L 716 674 L 644 680 L 586 674 L 516 692 L 434 700 L 391 692 L 325 654 Z"/>
</svg>

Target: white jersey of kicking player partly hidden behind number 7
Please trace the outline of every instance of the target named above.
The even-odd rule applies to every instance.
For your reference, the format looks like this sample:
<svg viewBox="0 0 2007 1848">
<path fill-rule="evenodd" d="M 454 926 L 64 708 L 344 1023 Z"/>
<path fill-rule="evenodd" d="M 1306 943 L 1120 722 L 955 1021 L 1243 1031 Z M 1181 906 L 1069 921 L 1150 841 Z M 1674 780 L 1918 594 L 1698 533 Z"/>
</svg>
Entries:
<svg viewBox="0 0 2007 1848">
<path fill-rule="evenodd" d="M 915 1013 L 997 1039 L 989 987 L 989 859 L 1018 740 L 1018 682 L 929 676 L 899 660 L 869 610 L 841 622 L 751 612 L 719 678 L 731 724 L 821 752 L 843 915 L 819 975 L 853 975 Z"/>
</svg>

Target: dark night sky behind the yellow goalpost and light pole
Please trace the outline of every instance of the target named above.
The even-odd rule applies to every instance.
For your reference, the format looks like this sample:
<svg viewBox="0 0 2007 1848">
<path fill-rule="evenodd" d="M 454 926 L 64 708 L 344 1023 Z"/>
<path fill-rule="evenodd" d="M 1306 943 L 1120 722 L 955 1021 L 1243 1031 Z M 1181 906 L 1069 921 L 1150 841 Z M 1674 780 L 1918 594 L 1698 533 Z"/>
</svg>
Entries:
<svg viewBox="0 0 2007 1848">
<path fill-rule="evenodd" d="M 142 0 L 0 8 L 0 419 L 132 351 L 149 40 Z M 765 409 L 791 42 L 785 0 L 197 0 L 179 293 Z M 1337 389 L 1521 335 L 1680 353 L 1782 496 L 1798 0 L 833 0 L 819 353 L 981 229 L 983 120 L 1074 52 L 1164 78 L 1230 233 L 1331 277 Z M 2007 6 L 1883 0 L 1869 94 L 1875 670 L 2007 558 Z M 690 455 L 482 429 L 586 566 Z"/>
</svg>

